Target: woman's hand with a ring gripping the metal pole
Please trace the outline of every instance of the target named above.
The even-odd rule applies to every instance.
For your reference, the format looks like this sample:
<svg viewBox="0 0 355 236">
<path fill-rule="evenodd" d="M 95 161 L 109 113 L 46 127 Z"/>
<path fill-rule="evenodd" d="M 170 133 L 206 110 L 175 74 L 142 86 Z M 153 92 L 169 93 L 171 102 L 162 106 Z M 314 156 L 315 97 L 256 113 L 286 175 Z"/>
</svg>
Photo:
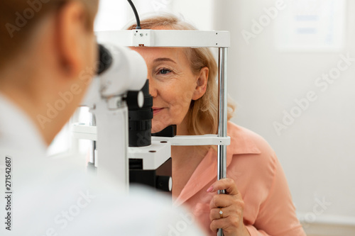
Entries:
<svg viewBox="0 0 355 236">
<path fill-rule="evenodd" d="M 224 236 L 238 235 L 250 236 L 243 222 L 244 201 L 236 189 L 233 179 L 220 179 L 207 189 L 213 193 L 219 190 L 226 190 L 226 194 L 213 196 L 209 203 L 210 228 L 213 232 L 222 229 Z M 220 214 L 222 212 L 222 214 Z"/>
</svg>

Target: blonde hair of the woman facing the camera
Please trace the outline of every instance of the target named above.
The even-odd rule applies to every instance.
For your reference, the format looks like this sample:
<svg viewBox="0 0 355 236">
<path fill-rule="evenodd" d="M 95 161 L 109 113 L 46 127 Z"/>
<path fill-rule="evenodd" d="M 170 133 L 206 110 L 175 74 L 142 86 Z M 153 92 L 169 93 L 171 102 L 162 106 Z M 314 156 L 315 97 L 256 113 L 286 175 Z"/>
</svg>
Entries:
<svg viewBox="0 0 355 236">
<path fill-rule="evenodd" d="M 158 16 L 149 16 L 141 20 L 142 29 L 164 27 L 167 30 L 197 30 L 190 23 L 181 21 L 173 14 L 165 13 Z M 133 24 L 126 27 L 128 30 L 136 29 Z M 217 63 L 208 47 L 185 48 L 187 60 L 194 74 L 199 74 L 204 67 L 209 69 L 207 89 L 204 95 L 196 101 L 191 101 L 187 112 L 188 131 L 190 135 L 217 134 L 218 132 L 218 90 L 217 90 Z M 227 119 L 230 120 L 235 111 L 235 105 L 229 98 Z"/>
</svg>

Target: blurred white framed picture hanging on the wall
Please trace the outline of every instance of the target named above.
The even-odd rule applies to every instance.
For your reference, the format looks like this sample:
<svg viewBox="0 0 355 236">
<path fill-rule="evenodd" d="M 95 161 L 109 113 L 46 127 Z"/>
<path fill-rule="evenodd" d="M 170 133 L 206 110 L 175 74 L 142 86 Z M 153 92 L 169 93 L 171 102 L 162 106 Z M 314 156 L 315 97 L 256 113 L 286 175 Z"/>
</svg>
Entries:
<svg viewBox="0 0 355 236">
<path fill-rule="evenodd" d="M 281 51 L 338 52 L 346 31 L 346 0 L 288 0 L 275 19 Z"/>
</svg>

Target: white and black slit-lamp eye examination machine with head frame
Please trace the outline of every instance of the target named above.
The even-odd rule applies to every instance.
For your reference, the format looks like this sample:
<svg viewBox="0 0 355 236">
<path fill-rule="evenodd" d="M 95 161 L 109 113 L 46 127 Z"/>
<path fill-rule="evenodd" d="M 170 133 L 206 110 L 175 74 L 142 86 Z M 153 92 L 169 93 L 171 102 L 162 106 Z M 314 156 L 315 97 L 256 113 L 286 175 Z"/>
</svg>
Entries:
<svg viewBox="0 0 355 236">
<path fill-rule="evenodd" d="M 135 182 L 153 178 L 155 183 L 148 185 L 171 191 L 171 146 L 217 145 L 217 177 L 226 178 L 226 146 L 230 144 L 230 137 L 226 135 L 226 64 L 230 33 L 142 30 L 137 27 L 134 30 L 97 32 L 97 42 L 104 45 L 100 46 L 99 73 L 82 103 L 89 106 L 94 116 L 89 125 L 75 124 L 72 128 L 74 137 L 92 140 L 90 162 L 97 174 L 110 174 L 126 188 L 132 178 L 138 180 Z M 149 112 L 152 112 L 153 100 L 148 94 L 146 64 L 138 52 L 126 47 L 218 47 L 218 134 L 152 137 L 153 116 Z M 137 132 L 132 133 L 135 130 Z M 142 145 L 136 145 L 138 143 Z M 223 235 L 222 230 L 218 235 Z"/>
</svg>

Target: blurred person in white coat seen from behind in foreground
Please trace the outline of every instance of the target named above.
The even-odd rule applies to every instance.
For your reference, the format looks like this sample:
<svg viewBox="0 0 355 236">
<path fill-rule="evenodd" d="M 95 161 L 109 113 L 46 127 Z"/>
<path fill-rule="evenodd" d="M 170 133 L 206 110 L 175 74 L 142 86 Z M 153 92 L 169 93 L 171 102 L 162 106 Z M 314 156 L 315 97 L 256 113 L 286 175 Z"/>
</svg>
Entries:
<svg viewBox="0 0 355 236">
<path fill-rule="evenodd" d="M 202 235 L 167 199 L 45 151 L 95 72 L 97 0 L 0 3 L 0 235 Z"/>
</svg>

